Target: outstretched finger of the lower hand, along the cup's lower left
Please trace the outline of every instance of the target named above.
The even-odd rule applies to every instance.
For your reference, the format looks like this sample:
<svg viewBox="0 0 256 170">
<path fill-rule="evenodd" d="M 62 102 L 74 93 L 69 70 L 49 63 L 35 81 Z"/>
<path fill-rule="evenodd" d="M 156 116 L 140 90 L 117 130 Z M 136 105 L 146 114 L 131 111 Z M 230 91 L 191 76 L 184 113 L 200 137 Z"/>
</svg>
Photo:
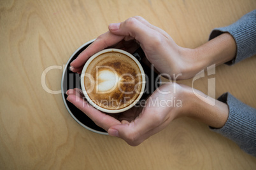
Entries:
<svg viewBox="0 0 256 170">
<path fill-rule="evenodd" d="M 92 121 L 94 121 L 97 126 L 105 129 L 106 131 L 108 131 L 111 126 L 121 124 L 120 121 L 92 107 L 92 105 L 84 101 L 82 98 L 77 100 L 76 95 L 69 95 L 67 100 L 82 110 L 82 112 L 90 117 L 90 119 L 92 119 Z"/>
</svg>

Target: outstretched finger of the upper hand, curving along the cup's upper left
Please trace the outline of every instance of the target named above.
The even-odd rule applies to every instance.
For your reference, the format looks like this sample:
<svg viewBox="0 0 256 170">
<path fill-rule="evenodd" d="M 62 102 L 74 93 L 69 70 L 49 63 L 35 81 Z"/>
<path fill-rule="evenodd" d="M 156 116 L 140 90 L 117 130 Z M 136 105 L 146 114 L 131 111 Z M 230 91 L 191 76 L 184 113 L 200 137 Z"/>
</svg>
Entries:
<svg viewBox="0 0 256 170">
<path fill-rule="evenodd" d="M 74 69 L 78 69 L 82 67 L 85 62 L 90 58 L 90 56 L 95 53 L 107 48 L 108 46 L 112 46 L 117 42 L 124 39 L 124 36 L 117 36 L 115 34 L 111 34 L 111 32 L 106 32 L 101 36 L 97 37 L 97 39 L 90 44 L 85 50 L 78 55 L 78 57 L 70 64 Z"/>
</svg>

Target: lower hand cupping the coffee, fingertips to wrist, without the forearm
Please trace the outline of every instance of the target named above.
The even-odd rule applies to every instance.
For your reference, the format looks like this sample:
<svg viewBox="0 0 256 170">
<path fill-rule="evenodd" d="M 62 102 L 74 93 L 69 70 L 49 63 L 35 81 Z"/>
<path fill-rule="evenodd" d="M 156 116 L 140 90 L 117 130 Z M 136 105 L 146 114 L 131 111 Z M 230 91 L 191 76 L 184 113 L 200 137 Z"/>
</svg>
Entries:
<svg viewBox="0 0 256 170">
<path fill-rule="evenodd" d="M 105 114 L 92 107 L 83 100 L 80 89 L 69 89 L 67 100 L 111 136 L 117 136 L 129 145 L 136 146 L 164 129 L 173 119 L 187 113 L 186 96 L 189 89 L 176 83 L 164 84 L 146 100 L 146 103 L 140 103 L 140 106 L 120 114 Z"/>
</svg>

